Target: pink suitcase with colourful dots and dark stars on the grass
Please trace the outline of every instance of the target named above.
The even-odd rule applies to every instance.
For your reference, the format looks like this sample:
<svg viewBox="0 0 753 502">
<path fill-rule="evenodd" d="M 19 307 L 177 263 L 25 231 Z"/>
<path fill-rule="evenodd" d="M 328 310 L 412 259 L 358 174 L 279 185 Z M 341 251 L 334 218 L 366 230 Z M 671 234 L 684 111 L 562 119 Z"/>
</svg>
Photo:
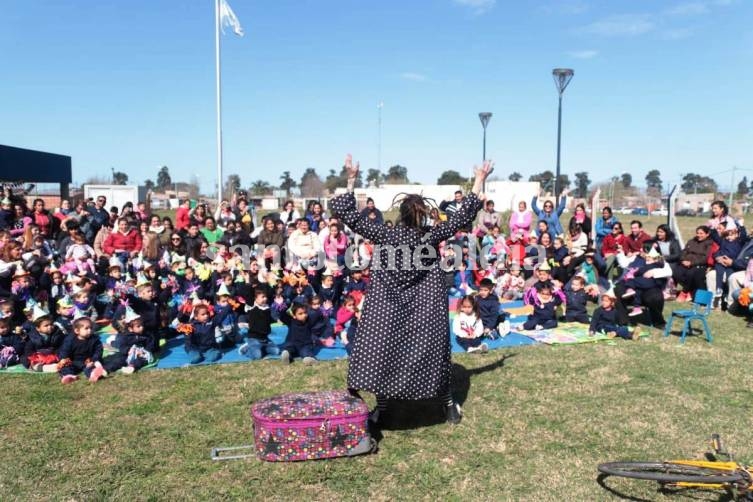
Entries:
<svg viewBox="0 0 753 502">
<path fill-rule="evenodd" d="M 350 457 L 376 451 L 369 409 L 347 391 L 304 392 L 251 407 L 256 455 L 270 462 Z"/>
</svg>

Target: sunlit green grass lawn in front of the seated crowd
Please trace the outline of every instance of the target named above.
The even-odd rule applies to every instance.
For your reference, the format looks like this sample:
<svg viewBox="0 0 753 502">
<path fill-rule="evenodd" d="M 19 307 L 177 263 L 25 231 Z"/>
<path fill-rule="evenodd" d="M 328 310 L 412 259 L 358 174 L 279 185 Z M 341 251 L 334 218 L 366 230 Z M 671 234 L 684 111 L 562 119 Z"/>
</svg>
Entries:
<svg viewBox="0 0 753 502">
<path fill-rule="evenodd" d="M 676 304 L 668 306 L 667 311 Z M 346 361 L 263 361 L 62 386 L 3 375 L 3 500 L 617 500 L 607 460 L 696 457 L 712 432 L 753 460 L 753 330 L 714 313 L 716 338 L 530 346 L 454 358 L 459 426 L 409 407 L 376 455 L 295 464 L 209 460 L 252 441 L 249 406 L 343 388 Z M 399 424 L 398 424 L 399 425 Z M 607 480 L 632 500 L 678 500 L 650 482 Z M 693 493 L 701 500 L 713 494 Z"/>
</svg>

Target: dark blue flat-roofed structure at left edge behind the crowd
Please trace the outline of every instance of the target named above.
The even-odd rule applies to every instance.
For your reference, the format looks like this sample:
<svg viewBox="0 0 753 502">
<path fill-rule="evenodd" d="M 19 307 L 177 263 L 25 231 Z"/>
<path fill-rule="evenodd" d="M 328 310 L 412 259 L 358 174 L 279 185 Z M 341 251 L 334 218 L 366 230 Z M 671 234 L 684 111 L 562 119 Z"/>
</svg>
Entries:
<svg viewBox="0 0 753 502">
<path fill-rule="evenodd" d="M 67 199 L 68 184 L 73 181 L 71 158 L 0 145 L 0 181 L 59 183 L 60 196 Z"/>
</svg>

